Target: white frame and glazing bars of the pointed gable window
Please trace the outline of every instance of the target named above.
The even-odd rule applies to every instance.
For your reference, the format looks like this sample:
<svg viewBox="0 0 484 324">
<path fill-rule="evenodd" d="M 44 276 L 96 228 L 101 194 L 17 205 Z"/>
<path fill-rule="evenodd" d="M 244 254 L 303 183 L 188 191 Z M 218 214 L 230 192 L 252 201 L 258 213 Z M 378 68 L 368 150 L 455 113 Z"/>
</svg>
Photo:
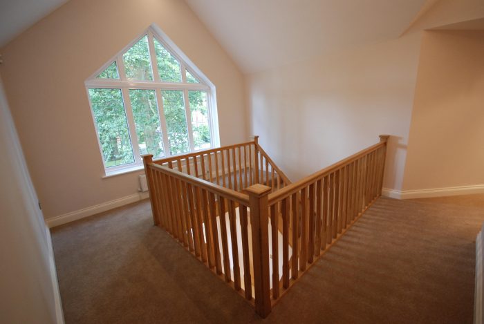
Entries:
<svg viewBox="0 0 484 324">
<path fill-rule="evenodd" d="M 122 61 L 122 55 L 131 48 L 134 44 L 136 44 L 142 37 L 148 36 L 148 44 L 149 44 L 149 55 L 151 59 L 151 72 L 153 73 L 153 81 L 133 81 L 126 78 L 124 73 L 124 64 Z M 163 82 L 160 79 L 160 75 L 158 73 L 158 64 L 156 61 L 156 53 L 155 48 L 153 46 L 153 38 L 162 44 L 166 50 L 169 51 L 171 55 L 173 55 L 178 62 L 180 63 L 180 73 L 182 82 L 180 83 L 173 83 L 173 82 Z M 97 78 L 97 75 L 100 75 L 106 68 L 108 68 L 113 61 L 116 62 L 116 67 L 118 68 L 118 75 L 120 79 L 100 79 Z M 198 82 L 200 83 L 187 83 L 187 74 L 186 71 L 191 73 Z M 156 26 L 156 24 L 152 24 L 144 30 L 138 37 L 136 37 L 131 43 L 125 46 L 120 52 L 111 57 L 106 64 L 104 64 L 101 68 L 99 68 L 95 73 L 93 73 L 86 82 L 84 82 L 86 86 L 86 93 L 87 97 L 89 98 L 89 106 L 91 107 L 91 115 L 93 117 L 93 123 L 97 135 L 97 144 L 99 145 L 100 154 L 102 164 L 104 166 L 104 173 L 105 176 L 117 175 L 121 173 L 127 173 L 131 171 L 137 171 L 142 169 L 142 158 L 140 157 L 140 150 L 138 145 L 138 137 L 136 135 L 136 126 L 133 119 L 133 112 L 131 108 L 131 100 L 129 99 L 129 90 L 130 89 L 146 89 L 146 90 L 155 90 L 156 94 L 156 103 L 158 106 L 158 116 L 160 118 L 160 127 L 162 131 L 162 143 L 163 143 L 163 151 L 165 151 L 165 155 L 162 158 L 168 158 L 173 156 L 170 154 L 169 150 L 169 142 L 168 142 L 168 133 L 167 133 L 167 123 L 165 120 L 165 113 L 163 110 L 163 100 L 162 100 L 162 90 L 182 90 L 183 91 L 183 98 L 185 101 L 185 115 L 186 115 L 186 122 L 187 122 L 187 132 L 188 132 L 188 143 L 189 143 L 189 152 L 196 152 L 196 151 L 203 151 L 195 150 L 194 149 L 194 140 L 193 140 L 193 132 L 192 132 L 192 115 L 190 113 L 190 106 L 189 106 L 189 99 L 188 99 L 188 91 L 189 90 L 202 90 L 206 91 L 207 93 L 207 113 L 208 113 L 208 122 L 210 128 L 210 148 L 215 148 L 220 146 L 220 137 L 218 133 L 218 114 L 216 108 L 216 93 L 215 93 L 215 86 L 210 82 L 202 72 L 199 70 L 195 64 L 190 61 L 190 59 L 174 44 L 171 39 L 162 32 L 162 30 Z M 129 137 L 131 140 L 131 146 L 133 149 L 133 156 L 134 162 L 129 164 L 122 164 L 118 166 L 109 166 L 106 167 L 106 162 L 104 162 L 104 156 L 102 153 L 102 146 L 99 137 L 99 131 L 97 130 L 97 124 L 95 122 L 95 116 L 92 109 L 91 97 L 89 95 L 89 88 L 114 88 L 120 89 L 122 92 L 122 100 L 124 104 L 124 111 L 127 117 L 127 126 L 129 131 Z M 186 153 L 189 153 L 186 152 Z M 181 154 L 186 154 L 181 153 Z"/>
</svg>

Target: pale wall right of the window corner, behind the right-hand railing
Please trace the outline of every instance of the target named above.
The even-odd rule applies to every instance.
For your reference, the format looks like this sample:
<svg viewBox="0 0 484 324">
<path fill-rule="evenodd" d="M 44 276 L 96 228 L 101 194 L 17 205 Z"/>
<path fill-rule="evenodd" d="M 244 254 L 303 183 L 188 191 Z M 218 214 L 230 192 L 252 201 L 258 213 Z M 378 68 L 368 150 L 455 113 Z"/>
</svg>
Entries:
<svg viewBox="0 0 484 324">
<path fill-rule="evenodd" d="M 420 34 L 247 78 L 252 133 L 291 180 L 391 134 L 384 187 L 402 187 Z"/>
</svg>

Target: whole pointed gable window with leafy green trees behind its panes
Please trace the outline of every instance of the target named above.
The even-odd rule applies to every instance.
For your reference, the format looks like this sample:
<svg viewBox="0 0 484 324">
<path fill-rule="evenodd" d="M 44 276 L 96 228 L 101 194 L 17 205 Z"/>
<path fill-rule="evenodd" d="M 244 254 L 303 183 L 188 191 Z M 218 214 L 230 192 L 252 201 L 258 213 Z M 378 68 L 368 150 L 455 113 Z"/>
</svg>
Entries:
<svg viewBox="0 0 484 324">
<path fill-rule="evenodd" d="M 168 44 L 149 28 L 86 81 L 106 173 L 218 143 L 212 84 Z"/>
</svg>

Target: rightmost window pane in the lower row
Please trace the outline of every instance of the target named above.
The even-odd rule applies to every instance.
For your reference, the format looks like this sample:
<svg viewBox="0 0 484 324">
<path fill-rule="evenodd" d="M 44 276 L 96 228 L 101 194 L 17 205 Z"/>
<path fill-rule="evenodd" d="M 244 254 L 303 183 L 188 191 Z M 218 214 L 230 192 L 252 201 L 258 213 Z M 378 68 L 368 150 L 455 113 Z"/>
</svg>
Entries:
<svg viewBox="0 0 484 324">
<path fill-rule="evenodd" d="M 208 123 L 207 92 L 188 91 L 190 111 L 192 113 L 192 130 L 196 150 L 210 148 L 210 128 Z"/>
</svg>

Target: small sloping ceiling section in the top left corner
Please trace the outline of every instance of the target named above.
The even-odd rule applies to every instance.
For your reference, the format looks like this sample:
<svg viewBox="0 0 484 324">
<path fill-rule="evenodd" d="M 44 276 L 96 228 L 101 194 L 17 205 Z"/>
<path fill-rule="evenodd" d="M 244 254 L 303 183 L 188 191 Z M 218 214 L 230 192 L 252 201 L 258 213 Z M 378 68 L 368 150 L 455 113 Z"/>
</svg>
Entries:
<svg viewBox="0 0 484 324">
<path fill-rule="evenodd" d="M 67 0 L 0 0 L 0 48 Z"/>
</svg>

